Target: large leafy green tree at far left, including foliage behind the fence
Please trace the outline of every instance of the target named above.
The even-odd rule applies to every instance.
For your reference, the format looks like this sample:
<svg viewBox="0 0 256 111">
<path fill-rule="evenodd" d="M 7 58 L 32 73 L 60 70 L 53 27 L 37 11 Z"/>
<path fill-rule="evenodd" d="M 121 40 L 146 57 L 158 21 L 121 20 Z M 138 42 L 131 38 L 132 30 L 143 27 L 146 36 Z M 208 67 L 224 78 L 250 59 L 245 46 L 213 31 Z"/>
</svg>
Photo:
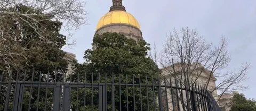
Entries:
<svg viewBox="0 0 256 111">
<path fill-rule="evenodd" d="M 61 77 L 67 70 L 67 62 L 62 59 L 65 52 L 61 48 L 73 45 L 74 42 L 67 42 L 67 38 L 72 35 L 71 30 L 86 24 L 85 2 L 12 0 L 1 1 L 0 4 L 1 79 L 16 81 L 18 77 L 18 81 L 31 81 L 32 78 L 33 81 L 39 81 L 39 78 L 49 82 L 63 80 Z M 60 29 L 69 35 L 61 35 Z M 8 110 L 12 108 L 14 88 L 15 84 L 12 84 Z M 7 85 L 3 83 L 0 88 L 0 110 L 3 110 L 7 102 L 6 89 Z M 29 101 L 30 110 L 37 110 L 37 105 L 38 110 L 43 110 L 45 102 L 46 110 L 52 110 L 52 88 L 41 88 L 40 91 L 36 87 L 31 89 L 27 87 L 24 90 L 22 110 L 28 110 Z"/>
</svg>

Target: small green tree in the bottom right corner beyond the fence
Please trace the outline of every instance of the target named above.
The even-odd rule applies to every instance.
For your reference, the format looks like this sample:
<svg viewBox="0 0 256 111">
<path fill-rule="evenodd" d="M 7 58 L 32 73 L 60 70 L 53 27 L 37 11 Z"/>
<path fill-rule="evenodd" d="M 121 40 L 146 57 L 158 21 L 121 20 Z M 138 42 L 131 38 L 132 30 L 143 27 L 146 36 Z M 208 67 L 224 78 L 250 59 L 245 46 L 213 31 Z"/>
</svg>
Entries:
<svg viewBox="0 0 256 111">
<path fill-rule="evenodd" d="M 236 94 L 231 101 L 230 111 L 256 111 L 256 101 L 246 99 L 244 94 Z"/>
</svg>

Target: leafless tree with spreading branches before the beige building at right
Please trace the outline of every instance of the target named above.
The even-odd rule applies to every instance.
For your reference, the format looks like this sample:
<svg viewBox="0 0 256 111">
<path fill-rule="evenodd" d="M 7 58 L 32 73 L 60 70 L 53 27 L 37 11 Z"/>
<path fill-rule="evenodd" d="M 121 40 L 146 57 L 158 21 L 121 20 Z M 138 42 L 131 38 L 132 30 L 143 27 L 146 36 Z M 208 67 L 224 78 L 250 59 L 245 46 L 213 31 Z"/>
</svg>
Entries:
<svg viewBox="0 0 256 111">
<path fill-rule="evenodd" d="M 214 46 L 199 36 L 196 29 L 186 27 L 170 32 L 163 44 L 163 51 L 159 55 L 155 54 L 156 51 L 150 55 L 158 60 L 156 62 L 161 65 L 164 77 L 172 76 L 184 88 L 191 87 L 189 84 L 202 84 L 215 93 L 214 96 L 217 96 L 218 90 L 220 99 L 223 93 L 247 89 L 242 82 L 247 79 L 246 73 L 251 66 L 250 63 L 245 63 L 236 71 L 223 73 L 222 70 L 225 70 L 231 59 L 227 46 L 228 41 L 224 36 L 219 45 Z M 217 79 L 220 80 L 219 84 L 211 84 Z M 185 110 L 186 104 L 181 104 Z"/>
</svg>

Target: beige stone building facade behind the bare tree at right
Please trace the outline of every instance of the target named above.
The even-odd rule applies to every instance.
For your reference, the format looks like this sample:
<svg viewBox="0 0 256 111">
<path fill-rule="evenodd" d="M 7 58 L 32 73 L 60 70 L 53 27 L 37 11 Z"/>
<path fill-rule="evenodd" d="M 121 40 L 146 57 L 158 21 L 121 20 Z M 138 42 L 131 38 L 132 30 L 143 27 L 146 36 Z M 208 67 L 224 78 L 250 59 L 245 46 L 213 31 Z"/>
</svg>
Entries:
<svg viewBox="0 0 256 111">
<path fill-rule="evenodd" d="M 175 75 L 174 75 L 173 67 L 165 67 L 161 70 L 162 70 L 162 76 L 164 76 L 166 81 L 168 81 L 167 83 L 169 83 L 169 84 L 171 83 L 172 86 L 175 86 L 175 81 L 174 81 L 175 80 L 174 76 L 175 76 L 175 78 L 177 78 L 178 87 L 180 87 L 180 84 L 182 84 L 182 88 L 185 88 L 185 82 L 184 82 L 185 79 L 184 79 L 184 75 L 182 74 L 181 64 L 177 63 L 174 65 L 174 70 L 176 73 Z M 210 78 L 210 71 L 207 69 L 204 69 L 203 65 L 201 65 L 201 64 L 191 64 L 189 72 L 191 72 L 191 74 L 189 75 L 190 76 L 189 77 L 190 84 L 192 81 L 193 83 L 197 83 L 204 87 Z M 172 80 L 170 80 L 170 79 L 172 79 Z M 170 82 L 170 81 L 172 81 L 172 82 Z M 217 81 L 217 79 L 214 76 L 211 76 L 209 85 L 207 87 L 207 90 L 213 91 L 212 92 L 213 97 L 218 96 L 217 90 L 214 90 L 216 87 L 215 81 Z M 167 89 L 167 92 L 171 93 L 171 90 Z M 181 110 L 183 110 L 181 102 L 179 104 L 177 104 L 177 98 L 175 96 L 174 96 L 174 100 L 171 99 L 172 98 L 171 95 L 167 95 L 167 97 L 169 99 L 168 107 L 170 110 L 173 109 L 173 104 L 172 104 L 173 102 L 175 103 L 175 107 L 178 107 L 177 105 L 179 105 Z M 181 99 L 181 97 L 179 97 L 179 99 Z M 185 91 L 183 91 L 183 100 L 186 101 L 186 92 Z M 164 100 L 164 101 L 166 101 L 166 100 Z M 165 102 L 163 102 L 163 103 L 165 103 Z M 165 106 L 167 106 L 167 105 L 165 105 Z M 200 109 L 200 110 L 202 110 L 202 109 Z"/>
</svg>

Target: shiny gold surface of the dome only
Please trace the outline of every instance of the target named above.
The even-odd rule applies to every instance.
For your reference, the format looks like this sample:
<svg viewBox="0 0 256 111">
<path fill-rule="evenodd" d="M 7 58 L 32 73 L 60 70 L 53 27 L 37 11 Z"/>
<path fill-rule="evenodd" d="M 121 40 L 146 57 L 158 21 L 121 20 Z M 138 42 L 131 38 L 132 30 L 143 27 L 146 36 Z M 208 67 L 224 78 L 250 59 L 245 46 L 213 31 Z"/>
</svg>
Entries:
<svg viewBox="0 0 256 111">
<path fill-rule="evenodd" d="M 100 21 L 98 22 L 96 30 L 103 27 L 104 25 L 112 23 L 130 24 L 140 29 L 139 22 L 134 18 L 132 14 L 125 11 L 116 10 L 108 12 L 107 14 L 103 15 Z"/>
</svg>

